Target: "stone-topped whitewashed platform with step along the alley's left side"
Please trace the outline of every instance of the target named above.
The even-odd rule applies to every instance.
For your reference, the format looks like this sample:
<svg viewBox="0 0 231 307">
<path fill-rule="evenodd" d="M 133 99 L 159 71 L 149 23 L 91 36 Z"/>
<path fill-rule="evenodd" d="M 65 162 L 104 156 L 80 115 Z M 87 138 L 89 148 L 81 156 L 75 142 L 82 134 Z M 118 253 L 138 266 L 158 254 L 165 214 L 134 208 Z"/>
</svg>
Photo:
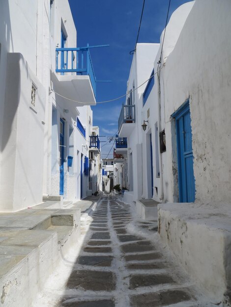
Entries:
<svg viewBox="0 0 231 307">
<path fill-rule="evenodd" d="M 49 207 L 49 204 L 48 204 Z M 0 213 L 1 306 L 29 307 L 80 236 L 80 210 L 44 204 Z"/>
</svg>

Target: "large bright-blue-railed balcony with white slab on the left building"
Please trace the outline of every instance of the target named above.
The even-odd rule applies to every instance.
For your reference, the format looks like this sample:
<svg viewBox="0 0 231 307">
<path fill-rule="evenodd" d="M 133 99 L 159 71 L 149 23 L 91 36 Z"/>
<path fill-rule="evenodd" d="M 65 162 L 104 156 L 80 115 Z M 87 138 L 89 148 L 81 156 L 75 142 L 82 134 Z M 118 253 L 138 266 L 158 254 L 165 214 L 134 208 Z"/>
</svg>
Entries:
<svg viewBox="0 0 231 307">
<path fill-rule="evenodd" d="M 96 104 L 96 77 L 88 47 L 57 48 L 56 73 L 53 73 L 53 89 L 66 97 L 66 102 L 75 106 L 83 106 L 79 102 Z"/>
</svg>

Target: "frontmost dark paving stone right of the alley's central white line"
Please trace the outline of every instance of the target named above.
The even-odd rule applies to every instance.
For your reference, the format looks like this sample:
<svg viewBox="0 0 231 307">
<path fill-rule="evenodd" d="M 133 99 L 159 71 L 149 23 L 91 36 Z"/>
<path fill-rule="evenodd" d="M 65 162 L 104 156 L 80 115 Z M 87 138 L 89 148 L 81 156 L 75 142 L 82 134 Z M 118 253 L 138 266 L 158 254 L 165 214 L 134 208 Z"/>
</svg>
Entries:
<svg viewBox="0 0 231 307">
<path fill-rule="evenodd" d="M 192 297 L 183 290 L 168 290 L 155 293 L 144 293 L 131 297 L 133 307 L 161 307 L 191 300 Z"/>
</svg>

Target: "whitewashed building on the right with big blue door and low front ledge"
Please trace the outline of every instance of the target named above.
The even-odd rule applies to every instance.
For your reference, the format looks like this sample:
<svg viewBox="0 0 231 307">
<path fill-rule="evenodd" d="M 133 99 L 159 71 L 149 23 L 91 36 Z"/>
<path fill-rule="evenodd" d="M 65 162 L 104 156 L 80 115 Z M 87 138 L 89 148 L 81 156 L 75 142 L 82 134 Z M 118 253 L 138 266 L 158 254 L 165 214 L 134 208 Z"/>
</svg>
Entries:
<svg viewBox="0 0 231 307">
<path fill-rule="evenodd" d="M 151 54 L 145 78 L 153 77 L 134 92 L 139 97 L 141 91 L 133 99 L 138 119 L 129 114 L 119 126 L 119 136 L 128 137 L 132 190 L 124 200 L 161 203 L 162 240 L 211 302 L 222 306 L 231 304 L 230 11 L 229 0 L 196 0 L 173 12 L 164 42 L 163 32 Z M 130 87 L 133 78 L 130 73 Z"/>
</svg>

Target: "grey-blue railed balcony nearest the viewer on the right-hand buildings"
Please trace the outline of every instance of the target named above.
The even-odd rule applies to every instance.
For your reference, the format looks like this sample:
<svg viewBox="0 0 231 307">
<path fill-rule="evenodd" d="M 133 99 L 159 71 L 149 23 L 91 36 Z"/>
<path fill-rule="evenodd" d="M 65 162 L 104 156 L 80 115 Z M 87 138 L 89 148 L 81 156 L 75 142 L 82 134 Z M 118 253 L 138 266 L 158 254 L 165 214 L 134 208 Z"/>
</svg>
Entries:
<svg viewBox="0 0 231 307">
<path fill-rule="evenodd" d="M 135 104 L 122 104 L 118 120 L 119 137 L 129 137 L 135 128 Z"/>
</svg>

